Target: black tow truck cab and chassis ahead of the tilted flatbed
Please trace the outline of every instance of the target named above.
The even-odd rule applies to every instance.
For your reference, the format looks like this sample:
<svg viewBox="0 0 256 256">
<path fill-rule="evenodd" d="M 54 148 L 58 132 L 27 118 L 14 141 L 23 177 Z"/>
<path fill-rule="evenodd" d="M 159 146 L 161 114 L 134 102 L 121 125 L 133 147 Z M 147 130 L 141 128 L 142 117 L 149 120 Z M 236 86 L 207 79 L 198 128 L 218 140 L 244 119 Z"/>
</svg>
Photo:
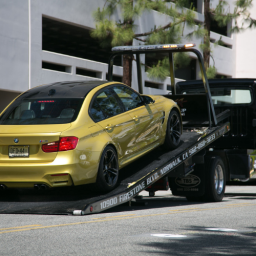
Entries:
<svg viewBox="0 0 256 256">
<path fill-rule="evenodd" d="M 216 113 L 230 112 L 230 131 L 200 152 L 201 163 L 195 166 L 193 175 L 186 177 L 187 183 L 179 184 L 174 179 L 170 180 L 172 193 L 186 196 L 191 201 L 205 198 L 207 175 L 209 169 L 213 168 L 213 159 L 222 161 L 226 181 L 231 184 L 253 184 L 256 178 L 256 79 L 210 79 L 208 82 Z M 176 89 L 179 94 L 186 95 L 204 91 L 199 80 L 178 82 Z M 206 179 L 206 182 L 195 184 L 195 177 Z M 190 192 L 182 186 L 186 186 Z"/>
</svg>

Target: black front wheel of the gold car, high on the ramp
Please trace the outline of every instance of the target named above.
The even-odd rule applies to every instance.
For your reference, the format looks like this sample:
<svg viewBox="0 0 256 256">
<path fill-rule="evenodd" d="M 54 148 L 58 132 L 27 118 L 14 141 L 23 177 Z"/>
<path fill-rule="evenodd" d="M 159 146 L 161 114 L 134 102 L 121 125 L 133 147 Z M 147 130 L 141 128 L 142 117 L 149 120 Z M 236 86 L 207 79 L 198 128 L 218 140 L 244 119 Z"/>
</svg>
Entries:
<svg viewBox="0 0 256 256">
<path fill-rule="evenodd" d="M 175 149 L 180 144 L 181 119 L 177 110 L 172 110 L 167 123 L 164 147 L 166 149 Z"/>
</svg>

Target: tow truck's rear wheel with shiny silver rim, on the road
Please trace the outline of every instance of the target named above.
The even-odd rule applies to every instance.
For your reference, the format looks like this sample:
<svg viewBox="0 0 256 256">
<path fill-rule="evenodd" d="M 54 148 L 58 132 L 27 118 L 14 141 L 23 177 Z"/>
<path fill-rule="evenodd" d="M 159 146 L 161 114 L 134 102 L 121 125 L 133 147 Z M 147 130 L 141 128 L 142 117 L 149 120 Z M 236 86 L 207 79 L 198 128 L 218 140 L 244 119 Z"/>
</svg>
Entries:
<svg viewBox="0 0 256 256">
<path fill-rule="evenodd" d="M 220 157 L 211 158 L 206 174 L 205 199 L 210 202 L 220 202 L 224 197 L 226 187 L 225 165 Z"/>
</svg>

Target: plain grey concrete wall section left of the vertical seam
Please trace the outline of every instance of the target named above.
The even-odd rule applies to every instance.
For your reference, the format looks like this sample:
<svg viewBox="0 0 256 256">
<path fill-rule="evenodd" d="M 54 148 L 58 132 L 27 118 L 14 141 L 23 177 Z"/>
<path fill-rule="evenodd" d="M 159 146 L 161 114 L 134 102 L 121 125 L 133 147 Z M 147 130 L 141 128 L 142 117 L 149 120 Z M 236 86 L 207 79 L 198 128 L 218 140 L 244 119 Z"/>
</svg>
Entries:
<svg viewBox="0 0 256 256">
<path fill-rule="evenodd" d="M 0 0 L 0 89 L 28 89 L 28 38 L 27 1 Z"/>
</svg>

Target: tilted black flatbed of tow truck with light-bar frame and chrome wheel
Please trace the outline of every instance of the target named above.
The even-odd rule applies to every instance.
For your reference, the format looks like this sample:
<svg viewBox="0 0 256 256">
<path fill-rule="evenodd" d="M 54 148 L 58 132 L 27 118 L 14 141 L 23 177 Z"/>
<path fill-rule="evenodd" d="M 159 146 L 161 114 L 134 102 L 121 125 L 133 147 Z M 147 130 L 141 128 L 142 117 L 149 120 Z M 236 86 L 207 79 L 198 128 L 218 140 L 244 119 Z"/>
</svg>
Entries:
<svg viewBox="0 0 256 256">
<path fill-rule="evenodd" d="M 98 213 L 130 202 L 141 191 L 149 187 L 152 188 L 160 180 L 169 180 L 174 194 L 175 184 L 178 184 L 180 187 L 176 190 L 183 192 L 187 198 L 193 196 L 191 193 L 197 189 L 198 193 L 207 195 L 208 200 L 221 201 L 225 191 L 226 171 L 220 158 L 209 156 L 211 168 L 203 169 L 195 175 L 191 174 L 194 171 L 198 172 L 195 170 L 196 165 L 200 166 L 204 162 L 206 148 L 209 148 L 230 130 L 230 123 L 227 120 L 230 116 L 229 110 L 220 111 L 218 115 L 215 114 L 202 55 L 194 46 L 194 44 L 120 46 L 112 48 L 113 53 L 109 59 L 108 74 L 109 80 L 112 81 L 114 58 L 122 55 L 135 55 L 139 92 L 143 93 L 140 55 L 155 53 L 169 57 L 172 93 L 164 96 L 176 101 L 183 115 L 183 134 L 177 149 L 166 152 L 159 148 L 128 165 L 120 173 L 118 186 L 109 193 L 84 192 L 76 200 L 67 198 L 41 202 L 38 201 L 38 198 L 32 198 L 29 202 L 20 202 L 14 198 L 10 202 L 0 196 L 0 200 L 2 199 L 0 213 L 71 215 Z M 197 56 L 201 69 L 203 92 L 191 95 L 177 94 L 173 63 L 173 54 L 176 52 L 190 52 Z M 192 185 L 189 187 L 187 184 Z"/>
</svg>

